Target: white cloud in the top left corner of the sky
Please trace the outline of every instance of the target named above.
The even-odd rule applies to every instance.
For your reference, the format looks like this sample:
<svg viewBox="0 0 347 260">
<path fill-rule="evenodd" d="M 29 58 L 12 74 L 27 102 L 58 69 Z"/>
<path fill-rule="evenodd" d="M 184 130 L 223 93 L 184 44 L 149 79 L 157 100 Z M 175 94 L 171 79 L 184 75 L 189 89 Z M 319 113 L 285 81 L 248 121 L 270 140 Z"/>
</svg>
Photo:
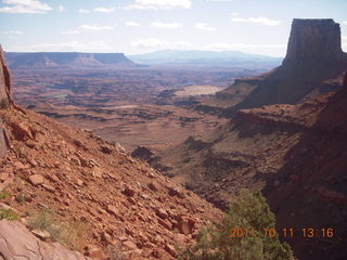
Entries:
<svg viewBox="0 0 347 260">
<path fill-rule="evenodd" d="M 0 8 L 0 13 L 47 13 L 52 10 L 38 0 L 2 0 L 8 6 Z"/>
</svg>

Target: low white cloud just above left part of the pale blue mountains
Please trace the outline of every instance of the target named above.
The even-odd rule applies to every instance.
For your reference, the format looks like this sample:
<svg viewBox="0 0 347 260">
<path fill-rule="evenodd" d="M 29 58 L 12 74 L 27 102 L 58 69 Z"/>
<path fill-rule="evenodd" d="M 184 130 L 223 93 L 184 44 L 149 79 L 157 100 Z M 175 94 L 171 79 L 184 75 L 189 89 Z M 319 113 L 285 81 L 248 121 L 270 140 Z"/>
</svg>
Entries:
<svg viewBox="0 0 347 260">
<path fill-rule="evenodd" d="M 143 39 L 132 41 L 131 46 L 139 49 L 172 49 L 172 48 L 187 48 L 191 44 L 187 41 L 166 41 L 160 39 Z"/>
</svg>

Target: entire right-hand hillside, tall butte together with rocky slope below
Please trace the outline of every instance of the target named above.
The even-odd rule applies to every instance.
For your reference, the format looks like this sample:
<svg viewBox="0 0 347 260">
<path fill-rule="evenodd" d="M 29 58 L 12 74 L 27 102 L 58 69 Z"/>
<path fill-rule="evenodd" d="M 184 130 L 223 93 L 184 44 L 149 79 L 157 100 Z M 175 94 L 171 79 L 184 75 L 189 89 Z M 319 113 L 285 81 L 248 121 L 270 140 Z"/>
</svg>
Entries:
<svg viewBox="0 0 347 260">
<path fill-rule="evenodd" d="M 321 27 L 330 29 L 323 30 Z M 287 58 L 295 55 L 297 60 L 285 60 L 282 67 L 254 78 L 253 81 L 235 82 L 236 86 L 241 82 L 249 86 L 254 83 L 254 91 L 244 101 L 255 101 L 258 96 L 257 102 L 260 103 L 252 105 L 258 107 L 234 109 L 230 114 L 230 122 L 209 136 L 189 138 L 160 154 L 151 154 L 141 147 L 133 155 L 143 157 L 175 181 L 220 208 L 226 208 L 242 187 L 261 190 L 277 213 L 279 230 L 293 227 L 300 232 L 304 227 L 313 227 L 314 231 L 334 229 L 332 238 L 317 237 L 316 232 L 314 238 L 296 236 L 288 239 L 299 259 L 345 259 L 347 76 L 343 72 L 347 67 L 342 63 L 345 53 L 340 52 L 336 41 L 336 38 L 339 39 L 336 32 L 339 27 L 331 21 L 294 21 L 292 28 Z M 307 32 L 310 29 L 317 32 L 316 41 L 312 41 L 313 38 L 306 41 L 307 34 L 295 36 L 298 31 Z M 330 38 L 331 35 L 334 37 Z M 320 44 L 320 40 L 325 46 L 312 49 L 306 46 L 312 42 Z M 312 56 L 303 56 L 301 52 L 293 51 L 296 47 L 309 52 L 317 50 L 316 63 L 310 61 Z M 331 50 L 336 47 L 335 52 Z M 337 64 L 324 68 L 326 57 Z M 300 67 L 301 72 L 293 67 L 285 75 L 278 73 L 287 69 L 287 63 L 301 63 L 305 66 Z M 308 64 L 312 67 L 307 67 Z M 323 81 L 317 81 L 318 72 L 319 80 Z M 329 92 L 323 95 L 317 95 L 320 93 L 318 91 L 314 98 L 300 95 L 288 102 L 292 98 L 286 92 L 286 84 L 277 84 L 275 89 L 271 82 L 267 84 L 271 75 L 278 77 L 275 82 L 291 80 L 292 98 L 300 91 L 306 94 L 312 91 L 305 88 L 332 88 L 323 91 Z M 311 78 L 314 84 L 308 87 L 307 82 Z M 337 92 L 333 91 L 336 89 Z M 277 100 L 275 95 L 283 99 Z M 261 103 L 261 96 L 266 98 L 265 103 Z M 264 106 L 268 102 L 298 104 Z M 246 103 L 242 101 L 240 104 Z"/>
</svg>

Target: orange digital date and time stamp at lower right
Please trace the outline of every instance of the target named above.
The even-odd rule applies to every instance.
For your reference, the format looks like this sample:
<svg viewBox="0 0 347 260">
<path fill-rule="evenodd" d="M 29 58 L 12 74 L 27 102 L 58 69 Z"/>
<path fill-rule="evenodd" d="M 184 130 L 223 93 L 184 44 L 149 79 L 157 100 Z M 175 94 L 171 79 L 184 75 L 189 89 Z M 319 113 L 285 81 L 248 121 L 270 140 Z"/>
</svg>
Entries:
<svg viewBox="0 0 347 260">
<path fill-rule="evenodd" d="M 283 238 L 294 238 L 294 237 L 304 237 L 304 238 L 333 238 L 334 229 L 333 227 L 303 227 L 303 229 L 293 229 L 293 227 L 282 227 L 277 230 L 274 227 L 264 229 L 262 232 L 256 231 L 255 229 L 240 227 L 234 226 L 230 230 L 229 237 L 246 237 L 246 236 L 262 236 L 262 237 L 283 237 Z"/>
</svg>

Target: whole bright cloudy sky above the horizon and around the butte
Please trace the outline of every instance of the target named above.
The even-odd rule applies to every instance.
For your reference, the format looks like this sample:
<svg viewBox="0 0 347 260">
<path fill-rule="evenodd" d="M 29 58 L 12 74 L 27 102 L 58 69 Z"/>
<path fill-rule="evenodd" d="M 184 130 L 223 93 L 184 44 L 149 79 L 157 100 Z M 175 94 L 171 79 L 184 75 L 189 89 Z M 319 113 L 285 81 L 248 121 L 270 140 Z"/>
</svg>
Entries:
<svg viewBox="0 0 347 260">
<path fill-rule="evenodd" d="M 15 52 L 284 56 L 293 18 L 333 18 L 347 51 L 347 0 L 0 0 L 0 43 Z"/>
</svg>

